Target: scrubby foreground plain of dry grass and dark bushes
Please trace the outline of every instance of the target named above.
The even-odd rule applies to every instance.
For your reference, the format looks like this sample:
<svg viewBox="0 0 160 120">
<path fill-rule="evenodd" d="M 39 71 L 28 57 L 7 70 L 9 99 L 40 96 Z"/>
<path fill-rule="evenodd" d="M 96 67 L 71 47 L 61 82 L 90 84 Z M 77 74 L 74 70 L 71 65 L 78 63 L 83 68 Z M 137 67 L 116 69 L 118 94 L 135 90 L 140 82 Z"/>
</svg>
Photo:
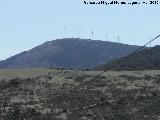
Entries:
<svg viewBox="0 0 160 120">
<path fill-rule="evenodd" d="M 99 72 L 0 70 L 0 119 L 160 119 L 160 70 Z"/>
</svg>

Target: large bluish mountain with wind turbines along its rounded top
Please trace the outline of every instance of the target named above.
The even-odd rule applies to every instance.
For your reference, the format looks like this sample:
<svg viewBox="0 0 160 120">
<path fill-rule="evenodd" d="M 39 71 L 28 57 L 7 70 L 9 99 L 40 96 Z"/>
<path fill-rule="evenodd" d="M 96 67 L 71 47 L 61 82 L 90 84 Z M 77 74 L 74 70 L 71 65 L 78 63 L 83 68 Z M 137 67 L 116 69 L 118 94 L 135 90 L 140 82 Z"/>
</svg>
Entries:
<svg viewBox="0 0 160 120">
<path fill-rule="evenodd" d="M 90 39 L 57 39 L 1 61 L 0 68 L 93 68 L 128 55 L 138 47 Z"/>
</svg>

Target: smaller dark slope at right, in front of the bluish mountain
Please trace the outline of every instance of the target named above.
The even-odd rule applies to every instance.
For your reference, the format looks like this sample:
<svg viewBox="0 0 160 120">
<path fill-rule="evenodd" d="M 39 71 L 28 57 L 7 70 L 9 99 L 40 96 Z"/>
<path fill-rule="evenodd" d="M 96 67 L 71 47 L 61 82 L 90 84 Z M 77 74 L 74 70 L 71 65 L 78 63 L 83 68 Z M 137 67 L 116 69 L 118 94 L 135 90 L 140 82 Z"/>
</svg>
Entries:
<svg viewBox="0 0 160 120">
<path fill-rule="evenodd" d="M 135 54 L 100 65 L 100 70 L 157 70 L 160 69 L 160 46 L 145 48 Z"/>
</svg>

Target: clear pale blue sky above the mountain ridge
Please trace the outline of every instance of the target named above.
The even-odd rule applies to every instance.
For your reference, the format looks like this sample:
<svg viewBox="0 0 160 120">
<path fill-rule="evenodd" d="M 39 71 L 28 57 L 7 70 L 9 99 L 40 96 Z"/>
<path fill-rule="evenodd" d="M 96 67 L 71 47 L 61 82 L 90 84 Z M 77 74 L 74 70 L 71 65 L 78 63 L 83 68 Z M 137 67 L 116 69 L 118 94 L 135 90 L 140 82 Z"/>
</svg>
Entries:
<svg viewBox="0 0 160 120">
<path fill-rule="evenodd" d="M 142 45 L 160 34 L 160 4 L 0 0 L 0 60 L 49 40 L 78 37 L 78 33 L 81 38 L 91 38 L 92 30 L 94 39 L 106 40 L 107 34 L 107 40 L 117 41 L 119 35 L 122 43 Z"/>
</svg>

